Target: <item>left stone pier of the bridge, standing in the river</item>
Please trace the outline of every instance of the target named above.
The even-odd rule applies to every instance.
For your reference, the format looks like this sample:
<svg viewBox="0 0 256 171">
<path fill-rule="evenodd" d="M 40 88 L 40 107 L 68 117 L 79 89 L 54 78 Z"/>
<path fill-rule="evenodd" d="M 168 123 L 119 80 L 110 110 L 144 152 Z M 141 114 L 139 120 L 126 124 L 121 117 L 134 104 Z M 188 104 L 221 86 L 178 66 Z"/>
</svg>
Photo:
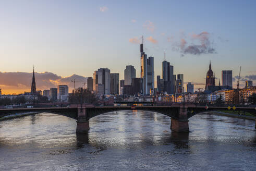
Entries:
<svg viewBox="0 0 256 171">
<path fill-rule="evenodd" d="M 88 133 L 90 129 L 89 120 L 86 116 L 86 107 L 78 108 L 78 120 L 76 133 Z"/>
</svg>

